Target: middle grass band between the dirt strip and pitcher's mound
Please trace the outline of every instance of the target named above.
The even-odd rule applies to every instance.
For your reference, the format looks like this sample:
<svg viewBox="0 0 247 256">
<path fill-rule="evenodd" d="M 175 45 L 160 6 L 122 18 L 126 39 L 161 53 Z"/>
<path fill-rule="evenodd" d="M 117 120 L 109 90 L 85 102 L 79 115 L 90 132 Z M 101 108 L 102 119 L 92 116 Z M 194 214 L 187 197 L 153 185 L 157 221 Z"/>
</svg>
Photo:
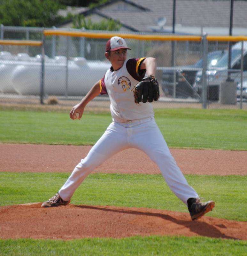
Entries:
<svg viewBox="0 0 247 256">
<path fill-rule="evenodd" d="M 1 172 L 0 205 L 43 202 L 58 191 L 68 175 Z M 215 209 L 208 216 L 247 221 L 247 199 L 243 196 L 247 194 L 246 176 L 186 175 L 186 178 L 201 197 L 215 201 Z M 91 174 L 75 191 L 71 203 L 188 212 L 162 175 Z"/>
</svg>

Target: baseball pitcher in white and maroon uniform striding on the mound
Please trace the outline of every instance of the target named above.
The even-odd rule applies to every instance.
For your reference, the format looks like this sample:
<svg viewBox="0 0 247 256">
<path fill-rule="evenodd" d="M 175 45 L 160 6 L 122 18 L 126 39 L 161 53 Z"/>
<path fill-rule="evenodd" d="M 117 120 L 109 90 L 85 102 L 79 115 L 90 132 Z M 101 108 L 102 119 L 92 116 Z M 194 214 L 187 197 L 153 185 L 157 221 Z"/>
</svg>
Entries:
<svg viewBox="0 0 247 256">
<path fill-rule="evenodd" d="M 127 50 L 131 49 L 119 36 L 113 36 L 106 43 L 105 57 L 112 66 L 72 108 L 70 118 L 81 119 L 90 100 L 99 94 L 108 94 L 112 123 L 74 168 L 58 193 L 44 202 L 42 207 L 69 204 L 76 188 L 97 166 L 121 150 L 137 148 L 158 165 L 169 188 L 188 206 L 191 219 L 196 220 L 211 211 L 214 202 L 200 201 L 177 166 L 155 122 L 151 102 L 159 99 L 159 86 L 155 79 L 156 59 L 127 59 Z"/>
</svg>

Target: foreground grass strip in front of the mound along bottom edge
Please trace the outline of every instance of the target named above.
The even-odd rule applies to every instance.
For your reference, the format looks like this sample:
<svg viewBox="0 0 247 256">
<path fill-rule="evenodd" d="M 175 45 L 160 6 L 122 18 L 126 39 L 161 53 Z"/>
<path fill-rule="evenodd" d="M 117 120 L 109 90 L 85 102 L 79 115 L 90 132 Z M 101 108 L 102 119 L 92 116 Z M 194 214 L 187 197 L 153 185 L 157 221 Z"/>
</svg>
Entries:
<svg viewBox="0 0 247 256">
<path fill-rule="evenodd" d="M 246 255 L 246 241 L 185 236 L 0 240 L 0 255 Z"/>
</svg>

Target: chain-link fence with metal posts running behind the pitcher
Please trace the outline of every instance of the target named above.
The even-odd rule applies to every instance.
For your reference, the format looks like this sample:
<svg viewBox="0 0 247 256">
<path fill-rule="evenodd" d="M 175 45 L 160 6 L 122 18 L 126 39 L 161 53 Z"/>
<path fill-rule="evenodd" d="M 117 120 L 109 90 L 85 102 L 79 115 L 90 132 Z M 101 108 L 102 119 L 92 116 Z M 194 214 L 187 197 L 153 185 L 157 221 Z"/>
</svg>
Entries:
<svg viewBox="0 0 247 256">
<path fill-rule="evenodd" d="M 60 105 L 73 105 L 110 68 L 104 56 L 108 37 L 94 38 L 96 33 L 108 35 L 107 32 L 86 31 L 92 32 L 91 38 L 44 36 L 43 32 L 44 28 L 1 26 L 1 40 L 41 40 L 43 46 L 0 44 L 0 102 L 22 99 L 39 104 L 42 93 L 42 103 L 56 96 Z M 132 35 L 133 38 L 146 36 Z M 132 49 L 128 58 L 157 60 L 160 100 L 153 103 L 155 108 L 247 109 L 247 42 L 233 44 L 231 69 L 228 69 L 228 41 L 206 40 L 206 37 L 184 41 L 133 38 L 129 33 L 125 38 Z M 88 107 L 108 108 L 109 105 L 108 96 L 102 95 Z"/>
</svg>

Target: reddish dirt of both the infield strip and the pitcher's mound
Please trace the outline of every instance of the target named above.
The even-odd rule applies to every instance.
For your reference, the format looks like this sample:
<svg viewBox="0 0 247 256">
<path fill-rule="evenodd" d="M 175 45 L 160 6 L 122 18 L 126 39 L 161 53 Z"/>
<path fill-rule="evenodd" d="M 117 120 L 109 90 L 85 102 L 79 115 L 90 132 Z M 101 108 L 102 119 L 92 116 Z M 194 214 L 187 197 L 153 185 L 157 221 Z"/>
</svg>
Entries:
<svg viewBox="0 0 247 256">
<path fill-rule="evenodd" d="M 0 171 L 71 172 L 90 148 L 0 144 Z M 247 175 L 247 151 L 171 149 L 171 153 L 184 174 Z M 160 173 L 158 167 L 136 149 L 113 156 L 95 172 Z M 41 203 L 2 206 L 0 229 L 1 239 L 183 235 L 247 240 L 247 222 L 207 216 L 191 221 L 189 213 L 73 204 L 50 209 L 41 208 Z"/>
</svg>

